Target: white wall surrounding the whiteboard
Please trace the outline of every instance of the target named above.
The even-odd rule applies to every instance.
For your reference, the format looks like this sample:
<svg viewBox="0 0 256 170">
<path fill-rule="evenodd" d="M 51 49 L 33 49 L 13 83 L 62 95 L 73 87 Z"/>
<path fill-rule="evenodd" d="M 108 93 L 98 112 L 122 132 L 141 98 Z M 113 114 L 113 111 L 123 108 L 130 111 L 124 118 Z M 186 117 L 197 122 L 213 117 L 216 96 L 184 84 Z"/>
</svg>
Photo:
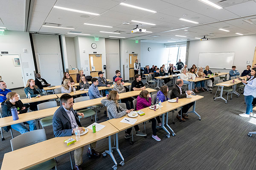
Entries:
<svg viewBox="0 0 256 170">
<path fill-rule="evenodd" d="M 235 52 L 234 64 L 241 74 L 246 65 L 252 65 L 256 47 L 256 35 L 215 38 L 209 41 L 190 41 L 188 67 L 198 65 L 201 52 Z M 250 61 L 250 64 L 246 62 Z M 211 68 L 211 63 L 209 63 Z M 230 68 L 231 69 L 231 68 Z M 230 70 L 211 69 L 211 71 L 229 72 Z"/>
</svg>

